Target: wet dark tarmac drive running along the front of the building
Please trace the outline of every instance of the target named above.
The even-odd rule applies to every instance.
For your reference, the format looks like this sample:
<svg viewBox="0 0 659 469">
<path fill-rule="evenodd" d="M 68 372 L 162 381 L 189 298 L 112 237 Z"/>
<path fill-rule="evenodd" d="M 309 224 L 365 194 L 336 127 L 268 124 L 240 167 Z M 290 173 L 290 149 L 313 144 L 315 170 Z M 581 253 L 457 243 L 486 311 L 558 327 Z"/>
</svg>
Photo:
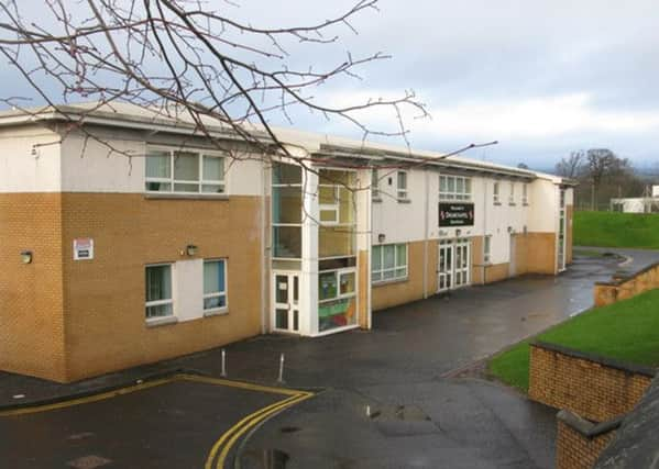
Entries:
<svg viewBox="0 0 659 469">
<path fill-rule="evenodd" d="M 614 259 L 578 258 L 556 278 L 472 287 L 375 313 L 372 332 L 233 344 L 227 347 L 230 379 L 276 384 L 285 354 L 285 384 L 322 391 L 272 418 L 249 421 L 226 460 L 235 457 L 243 468 L 553 467 L 556 411 L 498 384 L 447 373 L 589 308 L 593 282 L 617 269 Z M 220 351 L 73 386 L 0 373 L 0 403 L 17 393 L 39 400 L 174 369 L 218 377 Z M 0 434 L 10 435 L 0 438 L 0 457 L 10 457 L 3 460 L 12 468 L 94 460 L 85 457 L 111 462 L 79 467 L 202 467 L 227 428 L 268 405 L 277 411 L 272 405 L 282 399 L 179 382 L 0 416 Z"/>
</svg>

